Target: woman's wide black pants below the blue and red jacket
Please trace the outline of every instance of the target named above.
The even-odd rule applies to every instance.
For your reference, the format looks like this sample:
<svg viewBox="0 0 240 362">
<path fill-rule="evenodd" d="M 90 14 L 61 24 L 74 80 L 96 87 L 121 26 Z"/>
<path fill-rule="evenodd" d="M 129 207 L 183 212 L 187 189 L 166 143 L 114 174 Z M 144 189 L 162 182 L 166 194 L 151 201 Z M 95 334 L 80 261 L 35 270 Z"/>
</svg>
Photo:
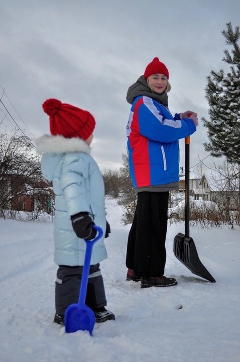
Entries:
<svg viewBox="0 0 240 362">
<path fill-rule="evenodd" d="M 166 263 L 168 192 L 138 193 L 126 266 L 140 277 L 161 277 Z"/>
</svg>

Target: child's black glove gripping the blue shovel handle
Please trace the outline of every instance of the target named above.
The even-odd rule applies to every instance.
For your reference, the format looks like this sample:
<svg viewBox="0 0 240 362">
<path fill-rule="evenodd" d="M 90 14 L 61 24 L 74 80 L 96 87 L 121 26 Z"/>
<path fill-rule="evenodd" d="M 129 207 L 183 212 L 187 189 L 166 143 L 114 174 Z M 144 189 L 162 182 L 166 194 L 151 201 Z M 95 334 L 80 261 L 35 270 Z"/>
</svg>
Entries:
<svg viewBox="0 0 240 362">
<path fill-rule="evenodd" d="M 80 212 L 71 216 L 72 228 L 77 237 L 81 239 L 91 240 L 96 236 L 96 230 L 92 228 L 95 225 L 88 212 Z"/>
</svg>

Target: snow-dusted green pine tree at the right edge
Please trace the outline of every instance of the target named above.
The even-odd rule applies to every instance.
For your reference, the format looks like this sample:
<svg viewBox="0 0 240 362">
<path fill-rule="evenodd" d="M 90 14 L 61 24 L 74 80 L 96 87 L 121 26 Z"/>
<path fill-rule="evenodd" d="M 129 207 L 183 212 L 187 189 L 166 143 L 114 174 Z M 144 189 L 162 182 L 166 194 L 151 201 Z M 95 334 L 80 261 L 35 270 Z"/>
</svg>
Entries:
<svg viewBox="0 0 240 362">
<path fill-rule="evenodd" d="M 202 118 L 209 138 L 204 147 L 214 157 L 225 156 L 229 162 L 240 164 L 240 27 L 234 31 L 231 23 L 226 27 L 222 35 L 233 49 L 231 54 L 225 49 L 222 60 L 230 64 L 230 71 L 225 75 L 223 69 L 212 70 L 207 77 L 205 92 L 210 119 Z"/>
</svg>

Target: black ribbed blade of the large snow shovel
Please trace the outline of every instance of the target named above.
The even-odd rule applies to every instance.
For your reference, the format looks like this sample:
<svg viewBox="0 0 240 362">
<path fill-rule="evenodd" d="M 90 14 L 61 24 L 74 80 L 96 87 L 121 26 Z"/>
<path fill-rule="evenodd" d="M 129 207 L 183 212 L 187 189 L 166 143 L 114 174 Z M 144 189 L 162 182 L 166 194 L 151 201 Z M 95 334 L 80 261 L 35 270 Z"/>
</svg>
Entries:
<svg viewBox="0 0 240 362">
<path fill-rule="evenodd" d="M 173 252 L 176 258 L 181 261 L 191 272 L 209 282 L 215 283 L 205 266 L 201 263 L 195 243 L 190 236 L 178 233 L 173 242 Z"/>
</svg>

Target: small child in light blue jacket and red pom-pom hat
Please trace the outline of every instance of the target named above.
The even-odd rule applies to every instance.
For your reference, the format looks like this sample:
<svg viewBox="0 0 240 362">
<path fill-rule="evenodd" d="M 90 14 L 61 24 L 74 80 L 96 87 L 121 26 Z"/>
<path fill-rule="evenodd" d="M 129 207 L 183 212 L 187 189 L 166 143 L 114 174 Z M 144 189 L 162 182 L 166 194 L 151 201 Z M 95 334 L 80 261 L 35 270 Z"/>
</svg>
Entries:
<svg viewBox="0 0 240 362">
<path fill-rule="evenodd" d="M 95 237 L 94 224 L 108 236 L 104 211 L 104 184 L 100 170 L 90 156 L 95 120 L 82 109 L 49 99 L 43 104 L 50 117 L 51 135 L 37 139 L 39 153 L 44 153 L 41 168 L 53 183 L 55 193 L 54 261 L 59 265 L 55 283 L 56 314 L 54 322 L 64 325 L 66 308 L 78 302 L 85 256 L 85 241 Z M 86 305 L 96 322 L 114 320 L 105 309 L 106 297 L 99 262 L 107 257 L 98 240 L 92 250 Z"/>
</svg>

